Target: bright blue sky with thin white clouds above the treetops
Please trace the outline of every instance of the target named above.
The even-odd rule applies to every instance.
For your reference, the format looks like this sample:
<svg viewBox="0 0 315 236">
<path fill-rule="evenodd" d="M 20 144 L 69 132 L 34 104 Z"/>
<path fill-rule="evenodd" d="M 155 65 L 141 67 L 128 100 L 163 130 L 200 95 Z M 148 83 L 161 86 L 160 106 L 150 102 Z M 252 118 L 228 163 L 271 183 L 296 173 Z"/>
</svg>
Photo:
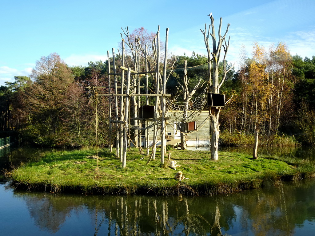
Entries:
<svg viewBox="0 0 315 236">
<path fill-rule="evenodd" d="M 121 41 L 121 27 L 144 27 L 161 39 L 169 28 L 169 53 L 205 54 L 200 29 L 223 18 L 230 23 L 227 60 L 238 62 L 258 42 L 268 50 L 285 42 L 292 55 L 315 55 L 315 0 L 1 1 L 0 85 L 28 76 L 37 60 L 56 52 L 69 66 L 107 58 Z M 217 30 L 217 29 L 216 29 Z M 237 63 L 236 63 L 237 66 Z"/>
</svg>

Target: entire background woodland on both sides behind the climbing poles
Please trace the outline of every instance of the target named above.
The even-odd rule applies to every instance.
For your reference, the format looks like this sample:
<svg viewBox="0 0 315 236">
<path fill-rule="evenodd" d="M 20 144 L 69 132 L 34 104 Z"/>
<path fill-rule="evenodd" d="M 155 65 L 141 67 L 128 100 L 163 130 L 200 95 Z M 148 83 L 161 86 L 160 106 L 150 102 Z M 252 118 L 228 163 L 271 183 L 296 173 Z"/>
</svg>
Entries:
<svg viewBox="0 0 315 236">
<path fill-rule="evenodd" d="M 235 140 L 252 136 L 258 128 L 261 137 L 271 144 L 282 135 L 294 135 L 305 144 L 315 144 L 315 56 L 291 56 L 284 43 L 268 50 L 254 43 L 251 57 L 243 49 L 240 55 L 239 69 L 230 70 L 221 87 L 221 93 L 228 98 L 233 95 L 221 110 L 222 143 L 240 145 Z M 133 62 L 131 56 L 126 60 L 127 64 Z M 187 73 L 192 87 L 193 81 L 207 78 L 205 55 L 172 56 L 171 61 L 174 60 L 178 69 L 169 77 L 166 93 L 175 96 L 174 88 L 182 81 L 185 60 L 191 67 Z M 150 84 L 154 81 L 149 76 Z M 15 76 L 14 82 L 0 87 L 0 131 L 17 131 L 28 143 L 80 147 L 95 144 L 98 126 L 99 144 L 108 146 L 109 100 L 96 99 L 85 89 L 88 86 L 108 86 L 107 61 L 69 67 L 57 53 L 42 57 L 30 77 Z M 141 101 L 145 105 L 145 99 Z"/>
</svg>

